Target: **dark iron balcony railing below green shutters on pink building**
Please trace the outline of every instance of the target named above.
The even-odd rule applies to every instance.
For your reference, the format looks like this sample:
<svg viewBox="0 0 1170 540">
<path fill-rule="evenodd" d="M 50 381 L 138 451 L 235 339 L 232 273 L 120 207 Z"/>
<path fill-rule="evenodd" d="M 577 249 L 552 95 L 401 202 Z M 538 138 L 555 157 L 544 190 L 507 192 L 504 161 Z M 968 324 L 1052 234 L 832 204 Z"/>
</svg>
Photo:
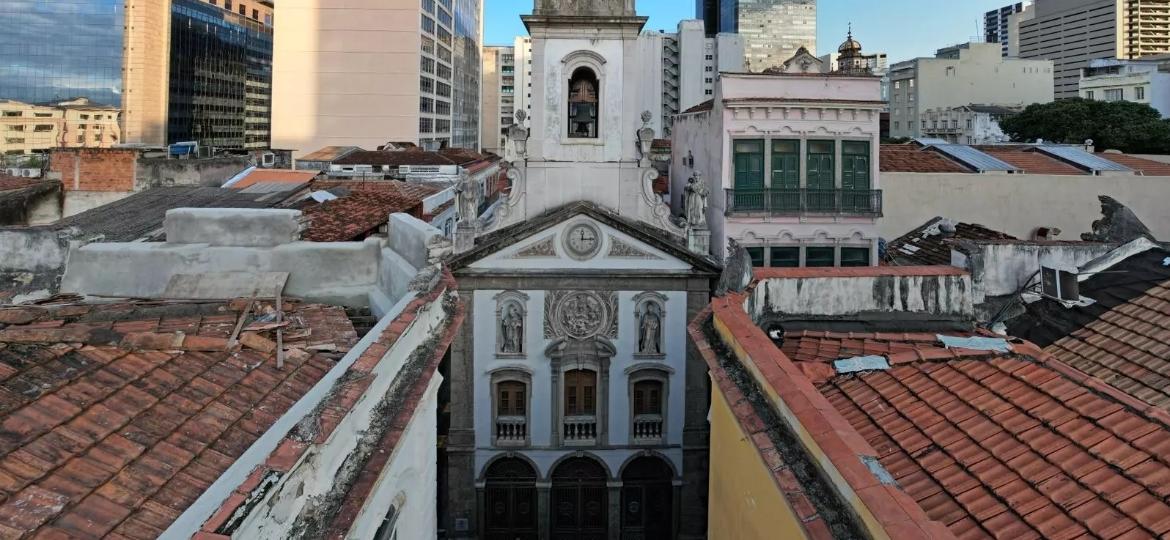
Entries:
<svg viewBox="0 0 1170 540">
<path fill-rule="evenodd" d="M 881 189 L 727 189 L 727 214 L 882 215 Z"/>
</svg>

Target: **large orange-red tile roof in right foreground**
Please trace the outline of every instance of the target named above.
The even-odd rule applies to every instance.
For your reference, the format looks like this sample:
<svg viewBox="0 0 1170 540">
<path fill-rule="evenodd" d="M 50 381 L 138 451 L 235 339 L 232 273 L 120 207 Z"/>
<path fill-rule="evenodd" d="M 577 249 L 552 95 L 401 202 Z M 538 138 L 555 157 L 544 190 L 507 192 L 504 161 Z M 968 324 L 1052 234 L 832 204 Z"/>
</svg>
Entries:
<svg viewBox="0 0 1170 540">
<path fill-rule="evenodd" d="M 1033 345 L 1002 354 L 928 334 L 804 332 L 783 348 L 814 362 L 804 372 L 956 536 L 1170 533 L 1170 415 Z M 892 367 L 838 375 L 825 364 L 858 354 Z"/>
</svg>

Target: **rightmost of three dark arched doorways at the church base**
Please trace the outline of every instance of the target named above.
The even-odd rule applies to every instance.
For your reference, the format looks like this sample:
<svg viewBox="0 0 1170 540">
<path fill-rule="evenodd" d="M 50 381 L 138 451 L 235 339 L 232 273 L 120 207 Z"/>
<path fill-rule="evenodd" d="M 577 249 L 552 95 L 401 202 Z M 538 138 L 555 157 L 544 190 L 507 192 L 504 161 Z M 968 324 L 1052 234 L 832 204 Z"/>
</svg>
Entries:
<svg viewBox="0 0 1170 540">
<path fill-rule="evenodd" d="M 674 471 L 642 456 L 621 472 L 622 540 L 669 540 L 674 532 Z"/>
</svg>

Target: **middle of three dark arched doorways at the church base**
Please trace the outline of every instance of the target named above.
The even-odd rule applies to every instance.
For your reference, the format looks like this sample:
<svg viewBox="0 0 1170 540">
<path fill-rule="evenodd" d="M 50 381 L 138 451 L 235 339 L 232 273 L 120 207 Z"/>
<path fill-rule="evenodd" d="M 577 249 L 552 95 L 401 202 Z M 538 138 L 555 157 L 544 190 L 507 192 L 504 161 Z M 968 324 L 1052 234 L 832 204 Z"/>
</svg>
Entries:
<svg viewBox="0 0 1170 540">
<path fill-rule="evenodd" d="M 552 471 L 552 538 L 607 538 L 606 479 L 605 468 L 585 457 L 566 459 Z"/>
</svg>

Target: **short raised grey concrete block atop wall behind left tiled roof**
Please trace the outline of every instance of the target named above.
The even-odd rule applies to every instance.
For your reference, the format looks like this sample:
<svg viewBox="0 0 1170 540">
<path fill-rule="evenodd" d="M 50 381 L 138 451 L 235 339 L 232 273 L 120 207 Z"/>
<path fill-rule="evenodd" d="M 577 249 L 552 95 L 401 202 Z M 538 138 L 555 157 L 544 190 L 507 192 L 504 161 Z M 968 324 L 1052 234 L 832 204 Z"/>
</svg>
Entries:
<svg viewBox="0 0 1170 540">
<path fill-rule="evenodd" d="M 301 212 L 241 208 L 176 208 L 163 227 L 172 244 L 270 248 L 301 240 Z"/>
</svg>

